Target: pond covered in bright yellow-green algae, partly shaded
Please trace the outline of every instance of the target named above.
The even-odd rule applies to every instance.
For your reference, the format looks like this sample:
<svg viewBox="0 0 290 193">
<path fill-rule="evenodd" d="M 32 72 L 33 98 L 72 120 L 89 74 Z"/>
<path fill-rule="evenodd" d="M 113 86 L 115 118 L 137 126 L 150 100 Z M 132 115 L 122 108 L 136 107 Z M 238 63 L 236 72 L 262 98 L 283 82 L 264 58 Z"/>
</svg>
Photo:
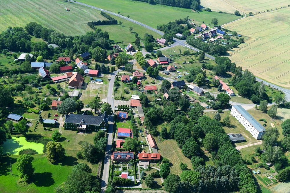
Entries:
<svg viewBox="0 0 290 193">
<path fill-rule="evenodd" d="M 12 137 L 12 139 L 7 139 L 3 143 L 3 148 L 5 153 L 18 155 L 20 150 L 31 148 L 37 153 L 41 154 L 44 145 L 41 143 L 34 143 L 26 141 L 25 137 Z"/>
</svg>

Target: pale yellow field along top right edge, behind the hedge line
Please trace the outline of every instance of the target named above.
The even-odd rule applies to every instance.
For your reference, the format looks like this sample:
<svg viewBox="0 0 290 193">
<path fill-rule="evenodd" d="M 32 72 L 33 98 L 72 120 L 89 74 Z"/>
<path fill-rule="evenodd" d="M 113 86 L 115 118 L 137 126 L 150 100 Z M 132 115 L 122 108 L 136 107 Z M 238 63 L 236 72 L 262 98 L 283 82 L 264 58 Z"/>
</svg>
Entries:
<svg viewBox="0 0 290 193">
<path fill-rule="evenodd" d="M 213 0 L 207 0 L 213 1 Z M 218 5 L 223 4 L 222 2 L 225 1 L 230 5 L 234 6 L 238 10 L 241 10 L 248 14 L 250 11 L 255 14 L 255 12 L 264 12 L 267 10 L 275 10 L 276 8 L 281 8 L 281 6 L 287 6 L 290 4 L 289 0 L 282 0 L 282 1 L 275 1 L 275 0 L 221 0 L 216 1 Z M 211 7 L 210 7 L 211 8 Z"/>
</svg>

